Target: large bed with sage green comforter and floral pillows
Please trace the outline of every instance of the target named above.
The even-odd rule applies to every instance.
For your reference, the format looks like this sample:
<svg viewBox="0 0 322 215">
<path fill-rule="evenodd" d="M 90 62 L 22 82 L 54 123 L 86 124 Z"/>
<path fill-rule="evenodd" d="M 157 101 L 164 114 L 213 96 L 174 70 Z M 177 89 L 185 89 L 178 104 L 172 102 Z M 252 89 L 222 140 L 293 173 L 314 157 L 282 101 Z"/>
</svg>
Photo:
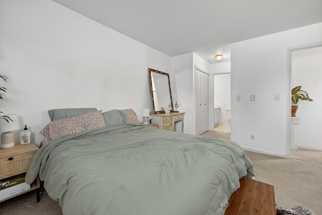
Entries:
<svg viewBox="0 0 322 215">
<path fill-rule="evenodd" d="M 254 176 L 233 141 L 138 124 L 125 110 L 67 112 L 41 131 L 26 174 L 63 214 L 224 214 L 239 179 Z"/>
</svg>

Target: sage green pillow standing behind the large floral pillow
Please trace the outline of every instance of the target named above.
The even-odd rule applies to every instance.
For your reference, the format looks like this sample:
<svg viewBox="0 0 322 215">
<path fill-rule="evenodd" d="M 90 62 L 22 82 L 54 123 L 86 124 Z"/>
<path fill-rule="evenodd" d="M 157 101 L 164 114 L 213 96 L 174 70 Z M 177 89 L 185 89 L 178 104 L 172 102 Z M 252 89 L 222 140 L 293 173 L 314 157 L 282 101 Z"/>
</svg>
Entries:
<svg viewBox="0 0 322 215">
<path fill-rule="evenodd" d="M 51 121 L 78 116 L 81 114 L 97 111 L 96 108 L 64 108 L 48 110 Z"/>
</svg>

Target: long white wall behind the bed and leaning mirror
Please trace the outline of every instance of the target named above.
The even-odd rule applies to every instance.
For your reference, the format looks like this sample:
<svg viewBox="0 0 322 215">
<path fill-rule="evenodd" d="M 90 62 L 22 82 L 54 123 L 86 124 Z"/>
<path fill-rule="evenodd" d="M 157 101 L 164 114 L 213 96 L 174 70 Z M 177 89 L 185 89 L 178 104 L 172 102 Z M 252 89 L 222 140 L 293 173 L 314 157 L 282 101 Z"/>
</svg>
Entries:
<svg viewBox="0 0 322 215">
<path fill-rule="evenodd" d="M 17 113 L 37 145 L 49 109 L 132 108 L 141 120 L 148 67 L 171 73 L 169 56 L 49 0 L 0 1 L 0 38 L 0 111 Z"/>
</svg>

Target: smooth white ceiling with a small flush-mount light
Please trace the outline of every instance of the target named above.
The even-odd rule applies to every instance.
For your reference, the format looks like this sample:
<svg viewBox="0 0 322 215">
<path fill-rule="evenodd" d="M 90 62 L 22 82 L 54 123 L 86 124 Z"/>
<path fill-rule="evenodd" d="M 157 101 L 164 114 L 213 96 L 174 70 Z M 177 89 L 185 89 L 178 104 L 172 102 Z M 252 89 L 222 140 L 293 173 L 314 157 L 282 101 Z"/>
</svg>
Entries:
<svg viewBox="0 0 322 215">
<path fill-rule="evenodd" d="M 52 1 L 169 56 L 210 63 L 230 61 L 231 43 L 322 22 L 322 0 Z"/>
</svg>

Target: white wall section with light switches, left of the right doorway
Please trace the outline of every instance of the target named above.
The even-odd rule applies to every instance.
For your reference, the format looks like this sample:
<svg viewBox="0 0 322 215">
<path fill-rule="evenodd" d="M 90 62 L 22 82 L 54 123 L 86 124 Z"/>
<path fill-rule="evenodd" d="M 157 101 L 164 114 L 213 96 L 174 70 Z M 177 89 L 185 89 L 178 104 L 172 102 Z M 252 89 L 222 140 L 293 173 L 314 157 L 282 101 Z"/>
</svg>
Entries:
<svg viewBox="0 0 322 215">
<path fill-rule="evenodd" d="M 231 140 L 251 151 L 286 157 L 287 49 L 321 40 L 319 23 L 231 44 Z M 252 94 L 256 101 L 250 101 Z"/>
</svg>

